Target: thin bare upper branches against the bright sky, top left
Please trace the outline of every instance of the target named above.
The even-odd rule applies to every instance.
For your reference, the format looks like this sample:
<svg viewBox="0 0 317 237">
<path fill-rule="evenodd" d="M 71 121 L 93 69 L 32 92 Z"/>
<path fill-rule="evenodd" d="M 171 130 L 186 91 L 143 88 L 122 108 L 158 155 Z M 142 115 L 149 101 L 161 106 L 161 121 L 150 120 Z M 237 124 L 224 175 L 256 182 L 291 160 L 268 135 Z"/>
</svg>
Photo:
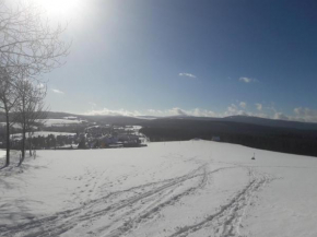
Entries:
<svg viewBox="0 0 317 237">
<path fill-rule="evenodd" d="M 0 1 L 0 68 L 36 79 L 64 63 L 71 45 L 61 40 L 67 26 L 51 27 L 32 3 L 10 9 Z"/>
</svg>

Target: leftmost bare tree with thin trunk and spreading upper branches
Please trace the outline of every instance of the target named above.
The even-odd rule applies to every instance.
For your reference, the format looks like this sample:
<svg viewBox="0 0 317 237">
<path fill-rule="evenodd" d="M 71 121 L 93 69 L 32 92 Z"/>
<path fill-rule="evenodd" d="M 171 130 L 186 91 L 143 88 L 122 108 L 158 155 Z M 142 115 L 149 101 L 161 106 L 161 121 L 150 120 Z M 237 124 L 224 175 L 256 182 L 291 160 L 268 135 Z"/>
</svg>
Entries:
<svg viewBox="0 0 317 237">
<path fill-rule="evenodd" d="M 8 118 L 7 139 L 10 138 L 10 111 L 17 99 L 13 91 L 21 86 L 16 83 L 25 79 L 44 83 L 39 80 L 43 73 L 64 63 L 70 49 L 70 44 L 61 39 L 64 29 L 61 25 L 52 27 L 45 12 L 35 4 L 19 2 L 12 7 L 0 0 L 0 106 Z M 21 108 L 21 87 L 19 94 Z M 10 140 L 7 146 L 5 164 L 9 165 Z"/>
</svg>

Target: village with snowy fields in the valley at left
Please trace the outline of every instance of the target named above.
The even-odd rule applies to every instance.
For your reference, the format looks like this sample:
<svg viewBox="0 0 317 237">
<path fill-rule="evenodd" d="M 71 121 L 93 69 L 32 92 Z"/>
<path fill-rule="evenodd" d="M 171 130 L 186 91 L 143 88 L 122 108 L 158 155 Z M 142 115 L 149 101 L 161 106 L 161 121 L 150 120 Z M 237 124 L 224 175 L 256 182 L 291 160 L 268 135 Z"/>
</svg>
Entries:
<svg viewBox="0 0 317 237">
<path fill-rule="evenodd" d="M 74 116 L 45 119 L 26 133 L 27 150 L 117 149 L 146 146 L 149 139 L 139 132 L 141 126 L 107 125 L 79 119 Z M 0 125 L 4 130 L 4 125 Z M 22 133 L 13 126 L 11 147 L 20 150 Z M 3 133 L 1 133 L 3 134 Z M 0 137 L 0 147 L 5 147 Z"/>
</svg>

